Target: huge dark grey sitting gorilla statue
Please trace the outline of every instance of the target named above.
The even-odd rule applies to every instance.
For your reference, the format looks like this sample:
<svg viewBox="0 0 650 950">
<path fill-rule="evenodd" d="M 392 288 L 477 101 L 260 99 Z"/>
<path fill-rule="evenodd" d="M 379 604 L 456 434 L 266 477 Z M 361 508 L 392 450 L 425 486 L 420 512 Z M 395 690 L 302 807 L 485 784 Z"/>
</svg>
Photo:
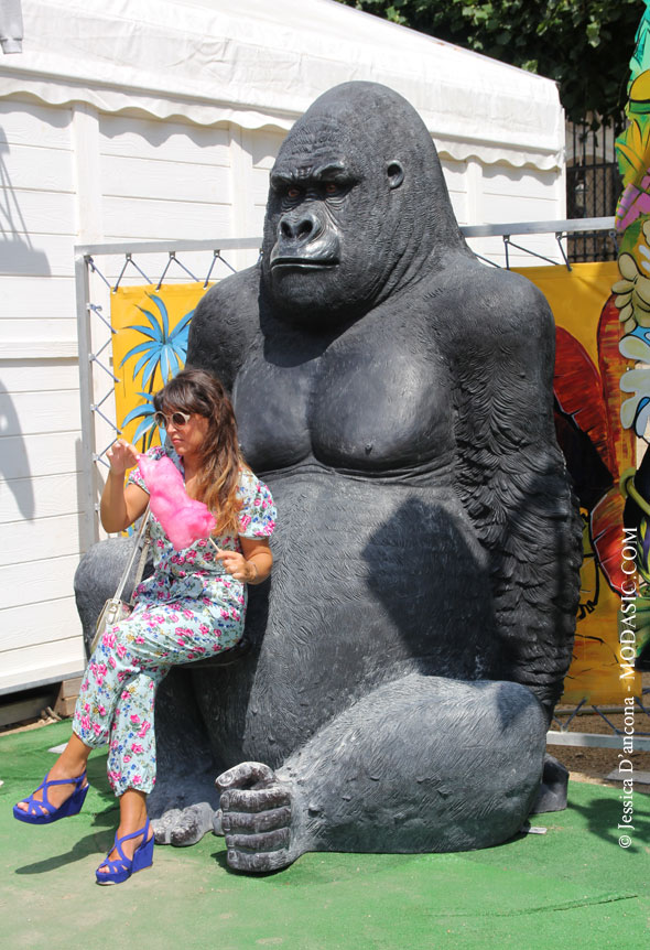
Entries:
<svg viewBox="0 0 650 950">
<path fill-rule="evenodd" d="M 466 246 L 413 108 L 321 96 L 271 172 L 261 262 L 192 321 L 187 364 L 231 392 L 279 526 L 248 652 L 161 689 L 159 841 L 214 813 L 229 865 L 264 872 L 521 828 L 578 595 L 553 347 L 535 288 Z M 87 625 L 106 543 L 77 577 Z"/>
</svg>

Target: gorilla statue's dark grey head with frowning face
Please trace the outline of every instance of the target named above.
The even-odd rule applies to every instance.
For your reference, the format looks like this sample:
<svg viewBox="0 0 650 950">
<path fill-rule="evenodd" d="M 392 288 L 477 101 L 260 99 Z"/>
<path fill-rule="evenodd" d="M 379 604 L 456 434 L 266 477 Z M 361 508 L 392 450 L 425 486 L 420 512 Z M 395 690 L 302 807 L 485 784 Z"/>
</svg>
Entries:
<svg viewBox="0 0 650 950">
<path fill-rule="evenodd" d="M 413 107 L 376 83 L 321 96 L 271 172 L 262 280 L 307 328 L 367 312 L 465 247 L 435 147 Z"/>
</svg>

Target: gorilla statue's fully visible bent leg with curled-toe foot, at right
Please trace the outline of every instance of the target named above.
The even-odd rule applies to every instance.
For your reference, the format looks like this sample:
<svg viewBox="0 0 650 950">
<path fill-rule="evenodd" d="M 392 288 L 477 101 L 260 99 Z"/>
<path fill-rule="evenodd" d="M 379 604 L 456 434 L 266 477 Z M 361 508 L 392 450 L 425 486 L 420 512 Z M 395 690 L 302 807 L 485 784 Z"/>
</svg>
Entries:
<svg viewBox="0 0 650 950">
<path fill-rule="evenodd" d="M 521 828 L 540 785 L 546 720 L 511 682 L 418 673 L 328 723 L 277 775 L 219 776 L 228 863 L 271 871 L 305 851 L 487 848 Z"/>
</svg>

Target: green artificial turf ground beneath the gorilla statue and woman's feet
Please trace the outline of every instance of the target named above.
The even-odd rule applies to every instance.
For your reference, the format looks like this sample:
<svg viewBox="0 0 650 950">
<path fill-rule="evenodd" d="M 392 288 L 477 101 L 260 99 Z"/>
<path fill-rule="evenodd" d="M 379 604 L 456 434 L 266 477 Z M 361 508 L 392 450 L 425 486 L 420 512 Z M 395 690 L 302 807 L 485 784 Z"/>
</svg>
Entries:
<svg viewBox="0 0 650 950">
<path fill-rule="evenodd" d="M 650 796 L 635 794 L 620 848 L 620 792 L 571 782 L 570 808 L 535 816 L 546 834 L 462 854 L 305 854 L 262 877 L 230 872 L 224 840 L 156 848 L 153 867 L 95 884 L 117 806 L 105 757 L 90 759 L 83 812 L 46 827 L 11 806 L 41 781 L 69 723 L 0 737 L 0 942 L 83 947 L 292 950 L 594 948 L 647 950 Z"/>
</svg>

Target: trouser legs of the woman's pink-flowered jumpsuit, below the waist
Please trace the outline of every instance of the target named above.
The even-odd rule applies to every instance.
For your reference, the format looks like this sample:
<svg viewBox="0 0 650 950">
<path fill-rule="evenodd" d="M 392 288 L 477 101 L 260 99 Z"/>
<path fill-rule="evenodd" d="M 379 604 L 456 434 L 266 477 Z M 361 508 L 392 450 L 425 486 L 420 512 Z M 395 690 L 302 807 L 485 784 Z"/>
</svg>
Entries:
<svg viewBox="0 0 650 950">
<path fill-rule="evenodd" d="M 215 629 L 196 606 L 189 597 L 139 605 L 104 635 L 90 657 L 73 731 L 91 748 L 108 744 L 108 780 L 116 796 L 128 788 L 149 792 L 155 785 L 155 693 L 170 669 L 214 656 L 241 637 L 241 614 L 225 617 Z"/>
</svg>

